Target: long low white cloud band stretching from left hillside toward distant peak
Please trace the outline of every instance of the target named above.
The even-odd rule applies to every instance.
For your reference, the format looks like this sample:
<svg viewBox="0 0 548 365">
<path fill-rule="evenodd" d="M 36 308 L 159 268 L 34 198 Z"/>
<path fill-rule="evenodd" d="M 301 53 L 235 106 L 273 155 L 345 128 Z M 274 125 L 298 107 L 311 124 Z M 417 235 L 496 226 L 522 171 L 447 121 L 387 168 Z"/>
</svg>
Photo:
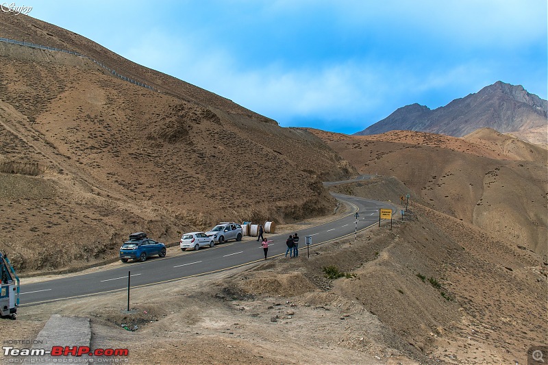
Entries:
<svg viewBox="0 0 548 365">
<path fill-rule="evenodd" d="M 421 96 L 438 90 L 471 83 L 479 90 L 486 86 L 482 82 L 488 71 L 473 61 L 433 66 L 425 74 L 415 73 L 404 63 L 388 61 L 344 61 L 318 68 L 284 68 L 271 63 L 251 69 L 238 64 L 240 61 L 227 49 L 212 46 L 155 31 L 123 55 L 232 99 L 282 125 L 286 119 L 299 117 L 349 121 L 372 114 L 384 117 L 406 103 L 428 105 Z M 445 105 L 456 97 L 464 95 L 448 95 L 439 102 Z"/>
</svg>

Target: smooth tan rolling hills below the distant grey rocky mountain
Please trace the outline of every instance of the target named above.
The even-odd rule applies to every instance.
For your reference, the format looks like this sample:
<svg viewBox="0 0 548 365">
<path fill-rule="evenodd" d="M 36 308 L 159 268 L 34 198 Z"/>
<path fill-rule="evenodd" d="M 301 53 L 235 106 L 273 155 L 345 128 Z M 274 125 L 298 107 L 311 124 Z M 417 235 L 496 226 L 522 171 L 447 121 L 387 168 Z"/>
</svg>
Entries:
<svg viewBox="0 0 548 365">
<path fill-rule="evenodd" d="M 401 194 L 427 207 L 514 246 L 548 253 L 545 149 L 492 129 L 465 138 L 414 131 L 314 133 L 360 174 L 395 177 L 408 189 Z"/>
</svg>

